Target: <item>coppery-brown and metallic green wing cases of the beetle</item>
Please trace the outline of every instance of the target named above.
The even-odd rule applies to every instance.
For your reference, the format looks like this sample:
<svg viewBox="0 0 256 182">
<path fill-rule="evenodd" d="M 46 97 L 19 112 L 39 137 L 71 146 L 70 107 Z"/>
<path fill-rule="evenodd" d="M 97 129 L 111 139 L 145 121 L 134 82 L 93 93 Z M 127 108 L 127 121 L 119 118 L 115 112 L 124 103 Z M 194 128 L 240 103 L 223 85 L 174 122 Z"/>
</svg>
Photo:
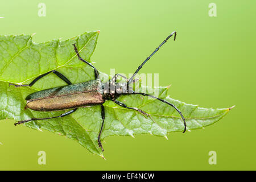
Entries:
<svg viewBox="0 0 256 182">
<path fill-rule="evenodd" d="M 102 104 L 105 99 L 101 88 L 100 80 L 90 80 L 41 90 L 26 97 L 27 107 L 37 111 L 53 111 Z"/>
</svg>

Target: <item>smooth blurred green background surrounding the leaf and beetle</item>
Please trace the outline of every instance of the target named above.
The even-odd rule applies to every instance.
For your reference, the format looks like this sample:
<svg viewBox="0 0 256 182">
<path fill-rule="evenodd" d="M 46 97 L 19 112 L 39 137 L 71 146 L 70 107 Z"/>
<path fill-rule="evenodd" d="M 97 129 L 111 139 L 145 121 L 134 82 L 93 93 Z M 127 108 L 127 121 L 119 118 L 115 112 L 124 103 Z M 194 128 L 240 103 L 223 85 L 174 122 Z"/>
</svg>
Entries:
<svg viewBox="0 0 256 182">
<path fill-rule="evenodd" d="M 0 122 L 0 169 L 228 170 L 255 167 L 256 1 L 0 1 L 0 34 L 32 34 L 34 42 L 101 30 L 92 61 L 101 72 L 132 73 L 172 31 L 141 73 L 159 73 L 172 98 L 201 107 L 230 107 L 213 126 L 169 140 L 150 135 L 109 137 L 103 160 L 48 131 Z M 38 4 L 46 16 L 38 16 Z M 217 17 L 208 15 L 216 3 Z M 38 151 L 46 151 L 46 165 Z M 217 164 L 208 152 L 217 152 Z"/>
</svg>

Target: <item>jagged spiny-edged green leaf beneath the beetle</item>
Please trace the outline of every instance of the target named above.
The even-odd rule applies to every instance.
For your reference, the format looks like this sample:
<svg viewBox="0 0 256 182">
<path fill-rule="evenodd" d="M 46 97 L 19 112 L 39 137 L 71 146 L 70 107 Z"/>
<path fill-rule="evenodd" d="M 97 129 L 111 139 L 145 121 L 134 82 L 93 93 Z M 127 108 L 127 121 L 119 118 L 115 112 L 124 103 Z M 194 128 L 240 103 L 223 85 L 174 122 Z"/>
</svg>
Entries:
<svg viewBox="0 0 256 182">
<path fill-rule="evenodd" d="M 96 47 L 98 34 L 99 31 L 85 32 L 68 40 L 52 40 L 39 44 L 32 42 L 32 36 L 29 35 L 0 36 L 0 119 L 22 121 L 64 113 L 64 111 L 40 112 L 24 109 L 28 94 L 66 85 L 54 74 L 41 78 L 32 88 L 15 88 L 9 86 L 9 82 L 28 84 L 37 76 L 53 69 L 63 73 L 72 83 L 93 80 L 93 69 L 77 59 L 72 44 L 76 43 L 80 56 L 91 62 L 90 57 Z M 231 109 L 204 109 L 197 105 L 185 104 L 168 97 L 167 89 L 167 87 L 155 88 L 151 94 L 158 92 L 160 98 L 176 105 L 186 118 L 188 130 L 212 125 Z M 106 119 L 101 140 L 112 135 L 133 137 L 135 134 L 152 134 L 166 137 L 172 131 L 184 130 L 179 113 L 167 104 L 141 95 L 121 96 L 118 100 L 128 106 L 138 107 L 150 116 L 144 117 L 137 111 L 106 101 L 104 104 Z M 97 143 L 101 123 L 100 106 L 93 106 L 79 108 L 67 117 L 33 121 L 24 125 L 37 130 L 46 129 L 77 140 L 90 152 L 103 158 Z"/>
</svg>

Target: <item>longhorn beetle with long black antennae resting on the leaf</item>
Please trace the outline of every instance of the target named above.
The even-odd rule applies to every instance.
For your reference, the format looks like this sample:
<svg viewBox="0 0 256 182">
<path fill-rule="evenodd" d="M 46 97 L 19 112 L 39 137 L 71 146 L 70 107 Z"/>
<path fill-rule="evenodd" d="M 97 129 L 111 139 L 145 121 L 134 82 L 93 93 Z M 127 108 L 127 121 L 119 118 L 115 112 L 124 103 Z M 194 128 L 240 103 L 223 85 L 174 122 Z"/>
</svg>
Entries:
<svg viewBox="0 0 256 182">
<path fill-rule="evenodd" d="M 106 100 L 110 100 L 115 102 L 115 104 L 125 107 L 127 109 L 133 109 L 135 111 L 138 111 L 139 113 L 143 115 L 148 114 L 141 109 L 138 109 L 137 107 L 129 107 L 126 106 L 124 103 L 117 100 L 118 97 L 123 95 L 131 95 L 131 94 L 141 94 L 142 96 L 148 96 L 155 98 L 156 100 L 159 100 L 161 102 L 164 102 L 172 107 L 180 114 L 181 118 L 184 122 L 184 131 L 186 131 L 186 122 L 185 118 L 181 114 L 180 110 L 177 109 L 177 107 L 170 102 L 167 102 L 165 100 L 162 100 L 161 98 L 151 96 L 150 94 L 146 93 L 137 93 L 135 92 L 129 84 L 131 82 L 134 82 L 135 75 L 139 72 L 139 70 L 143 67 L 143 65 L 159 50 L 160 47 L 163 46 L 164 43 L 167 42 L 171 36 L 174 35 L 174 40 L 176 39 L 176 31 L 172 32 L 169 36 L 167 36 L 166 39 L 155 49 L 154 52 L 151 53 L 150 56 L 147 57 L 146 60 L 143 61 L 143 63 L 137 68 L 137 70 L 134 72 L 133 76 L 131 76 L 129 79 L 125 76 L 122 76 L 120 74 L 115 74 L 112 79 L 110 79 L 106 83 L 102 83 L 99 79 L 99 74 L 97 69 L 90 64 L 88 61 L 82 59 L 79 55 L 79 51 L 76 48 L 76 45 L 73 44 L 76 55 L 79 60 L 82 62 L 88 64 L 90 67 L 94 69 L 94 80 L 81 82 L 78 84 L 72 84 L 67 77 L 62 75 L 60 72 L 56 70 L 49 71 L 47 73 L 44 73 L 43 75 L 40 75 L 35 78 L 30 84 L 27 85 L 15 85 L 15 84 L 9 84 L 14 85 L 15 87 L 19 86 L 32 86 L 35 84 L 36 81 L 38 81 L 40 78 L 48 75 L 49 73 L 54 73 L 58 77 L 60 77 L 63 81 L 65 81 L 68 85 L 66 86 L 59 86 L 52 89 L 46 89 L 41 90 L 39 92 L 32 93 L 26 97 L 27 105 L 26 107 L 36 110 L 36 111 L 55 111 L 55 110 L 65 110 L 65 109 L 72 109 L 68 111 L 67 113 L 60 114 L 55 117 L 50 118 L 31 118 L 24 121 L 19 121 L 15 123 L 14 125 L 20 125 L 25 122 L 29 121 L 36 121 L 36 120 L 43 120 L 43 119 L 52 119 L 52 118 L 61 118 L 66 115 L 69 115 L 77 110 L 78 107 L 86 107 L 86 106 L 94 106 L 94 105 L 101 105 L 101 118 L 102 118 L 102 124 L 100 133 L 98 134 L 98 146 L 101 148 L 102 151 L 104 151 L 102 144 L 101 144 L 101 133 L 104 126 L 104 120 L 105 120 L 105 110 L 104 110 L 104 102 Z M 117 82 L 117 77 L 123 77 L 126 79 L 125 83 L 119 83 Z"/>
</svg>

